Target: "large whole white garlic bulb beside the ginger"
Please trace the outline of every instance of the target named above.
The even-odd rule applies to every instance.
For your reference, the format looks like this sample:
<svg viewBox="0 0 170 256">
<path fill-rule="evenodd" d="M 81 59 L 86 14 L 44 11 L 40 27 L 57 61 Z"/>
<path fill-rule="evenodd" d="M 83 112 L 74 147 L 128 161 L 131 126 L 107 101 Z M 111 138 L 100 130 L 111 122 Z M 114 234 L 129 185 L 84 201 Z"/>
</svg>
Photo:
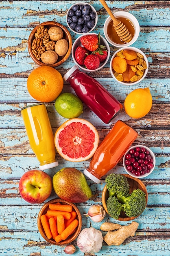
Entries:
<svg viewBox="0 0 170 256">
<path fill-rule="evenodd" d="M 81 252 L 99 252 L 102 248 L 102 241 L 102 232 L 94 227 L 89 227 L 80 232 L 77 246 Z"/>
</svg>

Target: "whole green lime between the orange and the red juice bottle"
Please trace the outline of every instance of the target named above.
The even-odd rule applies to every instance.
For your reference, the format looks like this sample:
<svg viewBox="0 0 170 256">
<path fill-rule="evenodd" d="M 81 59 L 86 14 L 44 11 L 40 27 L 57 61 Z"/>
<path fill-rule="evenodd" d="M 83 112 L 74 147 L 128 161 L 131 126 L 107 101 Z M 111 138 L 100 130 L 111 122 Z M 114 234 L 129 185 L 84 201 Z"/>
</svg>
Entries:
<svg viewBox="0 0 170 256">
<path fill-rule="evenodd" d="M 57 97 L 55 109 L 64 118 L 75 118 L 83 113 L 83 103 L 76 95 L 65 92 Z"/>
</svg>

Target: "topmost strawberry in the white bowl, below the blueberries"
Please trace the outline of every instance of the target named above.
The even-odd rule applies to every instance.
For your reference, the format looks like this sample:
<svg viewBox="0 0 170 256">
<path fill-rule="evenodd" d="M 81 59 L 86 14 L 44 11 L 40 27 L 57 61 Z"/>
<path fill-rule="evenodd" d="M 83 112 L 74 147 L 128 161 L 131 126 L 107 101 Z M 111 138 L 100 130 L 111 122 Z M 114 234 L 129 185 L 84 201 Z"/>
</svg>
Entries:
<svg viewBox="0 0 170 256">
<path fill-rule="evenodd" d="M 89 51 L 93 52 L 98 49 L 99 36 L 97 35 L 86 35 L 81 37 L 82 45 Z"/>
</svg>

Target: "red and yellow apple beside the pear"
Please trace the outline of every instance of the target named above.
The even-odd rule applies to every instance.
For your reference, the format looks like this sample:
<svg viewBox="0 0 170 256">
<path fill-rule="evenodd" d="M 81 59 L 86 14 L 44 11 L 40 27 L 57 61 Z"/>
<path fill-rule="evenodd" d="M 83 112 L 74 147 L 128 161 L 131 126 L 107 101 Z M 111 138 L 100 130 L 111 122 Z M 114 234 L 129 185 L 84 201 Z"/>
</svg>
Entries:
<svg viewBox="0 0 170 256">
<path fill-rule="evenodd" d="M 27 171 L 20 179 L 19 190 L 20 195 L 26 202 L 39 204 L 50 196 L 52 179 L 44 171 Z"/>
</svg>

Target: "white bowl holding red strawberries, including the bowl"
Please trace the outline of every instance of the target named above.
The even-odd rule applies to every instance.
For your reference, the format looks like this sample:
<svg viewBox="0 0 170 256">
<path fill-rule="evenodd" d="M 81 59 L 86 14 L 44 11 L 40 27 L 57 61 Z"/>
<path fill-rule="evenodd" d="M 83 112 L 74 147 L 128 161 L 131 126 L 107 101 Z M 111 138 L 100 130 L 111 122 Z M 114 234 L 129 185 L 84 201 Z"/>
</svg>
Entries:
<svg viewBox="0 0 170 256">
<path fill-rule="evenodd" d="M 79 36 L 72 46 L 72 58 L 84 72 L 96 72 L 104 67 L 110 57 L 107 40 L 99 34 Z"/>
</svg>

